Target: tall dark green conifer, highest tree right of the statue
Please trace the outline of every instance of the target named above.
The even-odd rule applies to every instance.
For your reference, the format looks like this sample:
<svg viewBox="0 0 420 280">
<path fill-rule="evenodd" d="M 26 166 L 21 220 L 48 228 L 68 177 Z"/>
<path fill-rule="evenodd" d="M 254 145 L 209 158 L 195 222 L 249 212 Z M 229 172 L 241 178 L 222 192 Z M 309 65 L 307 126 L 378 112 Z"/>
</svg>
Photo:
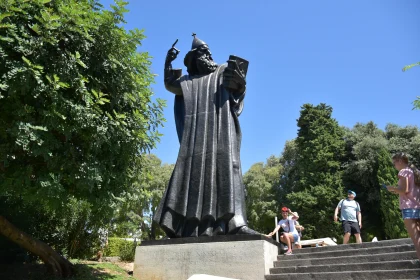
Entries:
<svg viewBox="0 0 420 280">
<path fill-rule="evenodd" d="M 344 140 L 343 129 L 331 114 L 332 108 L 326 104 L 304 104 L 298 119 L 298 181 L 287 198 L 292 210 L 299 211 L 299 220 L 306 226 L 306 238 L 339 235 L 332 214 L 344 197 L 341 182 Z"/>
</svg>

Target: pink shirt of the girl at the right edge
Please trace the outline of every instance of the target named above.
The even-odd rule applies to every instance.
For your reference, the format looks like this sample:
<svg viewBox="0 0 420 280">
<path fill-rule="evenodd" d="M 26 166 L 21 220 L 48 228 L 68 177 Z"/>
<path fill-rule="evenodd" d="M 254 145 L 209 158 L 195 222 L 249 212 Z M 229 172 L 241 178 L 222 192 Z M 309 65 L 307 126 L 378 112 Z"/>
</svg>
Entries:
<svg viewBox="0 0 420 280">
<path fill-rule="evenodd" d="M 400 209 L 420 209 L 420 187 L 414 184 L 413 170 L 409 167 L 401 169 L 398 178 L 398 186 L 408 178 L 408 193 L 400 194 Z"/>
</svg>

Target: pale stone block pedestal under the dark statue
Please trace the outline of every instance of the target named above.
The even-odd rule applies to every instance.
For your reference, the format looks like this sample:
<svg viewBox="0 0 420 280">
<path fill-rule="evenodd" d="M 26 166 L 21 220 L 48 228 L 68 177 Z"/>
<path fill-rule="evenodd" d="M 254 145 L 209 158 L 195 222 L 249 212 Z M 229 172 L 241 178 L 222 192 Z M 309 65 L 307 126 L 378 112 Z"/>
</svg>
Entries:
<svg viewBox="0 0 420 280">
<path fill-rule="evenodd" d="M 274 240 L 261 235 L 222 235 L 145 241 L 136 249 L 137 280 L 187 280 L 208 274 L 264 280 L 277 259 Z"/>
</svg>

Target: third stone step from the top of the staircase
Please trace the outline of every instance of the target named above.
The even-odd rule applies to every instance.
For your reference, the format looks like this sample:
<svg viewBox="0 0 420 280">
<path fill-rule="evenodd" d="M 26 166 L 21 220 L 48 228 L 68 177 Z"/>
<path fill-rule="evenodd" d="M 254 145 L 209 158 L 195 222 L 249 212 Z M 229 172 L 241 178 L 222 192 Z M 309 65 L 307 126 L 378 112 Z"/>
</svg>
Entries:
<svg viewBox="0 0 420 280">
<path fill-rule="evenodd" d="M 284 258 L 282 257 L 281 260 L 275 261 L 274 267 L 354 264 L 354 263 L 365 263 L 365 262 L 385 262 L 385 261 L 417 259 L 415 251 L 385 253 L 385 254 L 375 254 L 375 255 L 352 255 L 352 256 L 339 256 L 339 257 L 326 257 L 326 258 L 287 259 L 287 257 L 291 257 L 291 256 L 284 256 Z"/>
</svg>

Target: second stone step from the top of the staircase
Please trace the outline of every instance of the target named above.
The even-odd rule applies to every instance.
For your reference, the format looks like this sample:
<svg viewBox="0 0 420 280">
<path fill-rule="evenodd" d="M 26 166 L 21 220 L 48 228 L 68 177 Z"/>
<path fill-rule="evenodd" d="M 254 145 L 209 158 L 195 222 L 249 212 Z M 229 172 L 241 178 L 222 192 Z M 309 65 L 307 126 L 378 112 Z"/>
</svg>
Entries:
<svg viewBox="0 0 420 280">
<path fill-rule="evenodd" d="M 341 246 L 340 246 L 341 247 Z M 344 247 L 344 246 L 343 246 Z M 301 253 L 293 255 L 279 255 L 277 259 L 280 260 L 296 260 L 296 259 L 315 259 L 315 258 L 329 258 L 329 257 L 340 257 L 340 256 L 355 256 L 355 255 L 373 255 L 373 254 L 385 254 L 393 252 L 406 252 L 414 251 L 414 245 L 403 244 L 394 246 L 381 246 L 372 248 L 357 248 L 357 249 L 342 249 L 340 251 L 315 251 L 313 253 Z"/>
</svg>

